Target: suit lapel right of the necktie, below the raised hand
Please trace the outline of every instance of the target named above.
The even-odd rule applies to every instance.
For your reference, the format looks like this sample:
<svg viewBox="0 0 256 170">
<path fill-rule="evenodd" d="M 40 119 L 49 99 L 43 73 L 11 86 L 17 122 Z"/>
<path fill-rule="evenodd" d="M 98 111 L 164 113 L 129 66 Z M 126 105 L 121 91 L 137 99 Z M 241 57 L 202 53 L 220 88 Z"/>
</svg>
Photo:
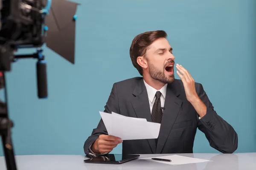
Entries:
<svg viewBox="0 0 256 170">
<path fill-rule="evenodd" d="M 172 126 L 180 111 L 182 100 L 177 98 L 180 95 L 180 86 L 175 81 L 168 84 L 166 89 L 166 98 L 164 103 L 165 110 L 163 111 L 162 122 L 157 142 L 156 153 L 161 153 L 166 139 L 172 130 Z"/>
</svg>

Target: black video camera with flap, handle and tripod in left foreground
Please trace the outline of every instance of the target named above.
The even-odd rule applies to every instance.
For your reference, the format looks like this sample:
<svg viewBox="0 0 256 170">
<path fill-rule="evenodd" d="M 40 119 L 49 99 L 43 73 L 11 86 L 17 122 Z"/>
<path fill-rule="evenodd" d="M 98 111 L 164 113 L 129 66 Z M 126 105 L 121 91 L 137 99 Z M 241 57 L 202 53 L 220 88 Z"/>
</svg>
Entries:
<svg viewBox="0 0 256 170">
<path fill-rule="evenodd" d="M 67 53 L 68 50 L 71 54 L 69 56 L 62 55 L 62 57 L 70 62 L 74 61 L 76 6 L 76 3 L 67 0 L 0 0 L 0 88 L 5 89 L 5 98 L 7 97 L 5 72 L 11 71 L 12 62 L 22 58 L 38 59 L 36 64 L 38 97 L 40 99 L 47 98 L 47 68 L 41 47 L 44 43 L 49 42 L 47 47 L 61 54 L 59 45 L 62 45 L 65 52 Z M 60 11 L 66 11 L 70 20 L 58 18 L 58 16 L 62 16 L 57 15 Z M 67 17 L 66 13 L 65 17 Z M 69 26 L 68 33 L 63 33 L 65 29 L 59 27 L 64 21 L 70 22 L 64 24 L 64 26 Z M 56 43 L 52 42 L 52 39 L 47 40 L 47 31 L 53 29 L 55 25 L 58 26 L 58 29 L 55 29 L 54 39 L 64 40 L 63 36 L 68 37 L 67 43 L 59 44 L 58 47 Z M 58 34 L 61 31 L 62 34 Z M 19 48 L 37 48 L 37 51 L 34 54 L 15 55 Z M 3 141 L 6 167 L 8 170 L 16 170 L 11 127 L 13 127 L 13 123 L 8 117 L 6 99 L 6 102 L 0 101 L 0 136 Z"/>
</svg>

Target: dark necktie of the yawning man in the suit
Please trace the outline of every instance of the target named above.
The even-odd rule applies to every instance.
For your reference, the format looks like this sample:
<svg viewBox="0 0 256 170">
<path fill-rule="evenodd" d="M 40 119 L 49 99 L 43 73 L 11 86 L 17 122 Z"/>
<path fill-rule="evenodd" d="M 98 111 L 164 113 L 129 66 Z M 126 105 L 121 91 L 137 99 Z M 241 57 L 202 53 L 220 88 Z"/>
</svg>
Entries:
<svg viewBox="0 0 256 170">
<path fill-rule="evenodd" d="M 160 101 L 161 92 L 157 91 L 155 96 L 156 96 L 156 99 L 152 108 L 151 119 L 152 119 L 152 122 L 161 123 L 162 116 L 163 116 L 163 112 L 161 109 L 161 101 Z"/>
</svg>

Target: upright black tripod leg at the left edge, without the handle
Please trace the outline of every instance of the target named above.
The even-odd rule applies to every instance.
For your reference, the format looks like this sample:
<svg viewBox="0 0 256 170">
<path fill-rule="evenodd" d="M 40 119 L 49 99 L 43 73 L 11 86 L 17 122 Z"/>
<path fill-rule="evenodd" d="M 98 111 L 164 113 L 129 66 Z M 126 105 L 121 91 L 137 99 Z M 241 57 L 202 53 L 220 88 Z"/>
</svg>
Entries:
<svg viewBox="0 0 256 170">
<path fill-rule="evenodd" d="M 11 138 L 11 128 L 13 127 L 13 123 L 8 117 L 7 91 L 4 72 L 2 73 L 2 78 L 6 103 L 0 102 L 0 136 L 2 136 L 7 170 L 17 170 Z"/>
</svg>

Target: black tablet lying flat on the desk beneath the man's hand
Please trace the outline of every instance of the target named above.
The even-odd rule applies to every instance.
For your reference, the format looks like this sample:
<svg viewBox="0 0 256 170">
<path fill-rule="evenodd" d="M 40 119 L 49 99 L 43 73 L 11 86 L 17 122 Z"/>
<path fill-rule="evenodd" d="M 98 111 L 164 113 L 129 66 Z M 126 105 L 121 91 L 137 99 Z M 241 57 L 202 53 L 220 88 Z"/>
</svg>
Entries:
<svg viewBox="0 0 256 170">
<path fill-rule="evenodd" d="M 85 163 L 94 164 L 122 164 L 127 161 L 139 158 L 140 155 L 106 154 L 94 158 L 85 159 Z"/>
</svg>

